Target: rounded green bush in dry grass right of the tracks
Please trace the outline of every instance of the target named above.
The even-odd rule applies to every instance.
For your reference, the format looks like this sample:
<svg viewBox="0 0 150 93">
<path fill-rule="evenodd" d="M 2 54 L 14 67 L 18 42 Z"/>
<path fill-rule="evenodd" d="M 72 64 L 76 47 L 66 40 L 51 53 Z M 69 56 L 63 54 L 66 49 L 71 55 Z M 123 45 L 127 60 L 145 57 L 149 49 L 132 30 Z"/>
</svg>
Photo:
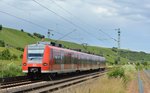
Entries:
<svg viewBox="0 0 150 93">
<path fill-rule="evenodd" d="M 114 68 L 112 71 L 108 73 L 109 78 L 124 78 L 125 77 L 125 71 L 123 68 L 117 67 Z"/>
</svg>

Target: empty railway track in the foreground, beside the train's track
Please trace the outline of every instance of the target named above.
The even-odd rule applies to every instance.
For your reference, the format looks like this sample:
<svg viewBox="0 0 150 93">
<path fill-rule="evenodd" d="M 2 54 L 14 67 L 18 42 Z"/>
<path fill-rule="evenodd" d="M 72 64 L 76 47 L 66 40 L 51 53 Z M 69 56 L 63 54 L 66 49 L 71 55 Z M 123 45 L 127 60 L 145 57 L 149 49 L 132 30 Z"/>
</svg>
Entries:
<svg viewBox="0 0 150 93">
<path fill-rule="evenodd" d="M 41 93 L 47 91 L 54 92 L 58 89 L 78 84 L 89 79 L 94 79 L 104 74 L 105 72 L 94 72 L 53 81 L 26 81 L 20 82 L 19 84 L 8 84 L 1 87 L 0 93 Z"/>
</svg>

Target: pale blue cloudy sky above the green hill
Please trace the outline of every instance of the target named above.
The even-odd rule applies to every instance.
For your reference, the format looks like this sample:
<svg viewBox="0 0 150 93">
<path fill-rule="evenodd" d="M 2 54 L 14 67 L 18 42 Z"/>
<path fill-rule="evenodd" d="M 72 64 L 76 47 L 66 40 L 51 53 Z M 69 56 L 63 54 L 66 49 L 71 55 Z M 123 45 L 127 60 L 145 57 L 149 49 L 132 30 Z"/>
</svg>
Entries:
<svg viewBox="0 0 150 93">
<path fill-rule="evenodd" d="M 62 40 L 103 47 L 116 47 L 117 43 L 101 31 L 117 39 L 115 29 L 120 28 L 121 48 L 150 53 L 149 0 L 35 1 L 55 13 L 44 9 L 33 0 L 0 0 L 0 24 L 44 35 L 51 29 L 53 39 L 59 39 L 72 32 Z M 23 18 L 43 28 L 2 12 Z"/>
</svg>

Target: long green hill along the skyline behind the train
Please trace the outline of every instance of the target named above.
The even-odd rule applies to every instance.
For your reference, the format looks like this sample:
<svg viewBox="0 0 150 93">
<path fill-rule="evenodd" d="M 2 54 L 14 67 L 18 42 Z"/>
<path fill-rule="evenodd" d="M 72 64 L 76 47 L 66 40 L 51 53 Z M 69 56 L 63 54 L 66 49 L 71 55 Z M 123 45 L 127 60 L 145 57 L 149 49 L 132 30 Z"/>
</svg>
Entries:
<svg viewBox="0 0 150 93">
<path fill-rule="evenodd" d="M 6 45 L 12 48 L 24 48 L 28 44 L 36 43 L 41 39 L 31 33 L 24 32 L 23 30 L 16 30 L 11 28 L 3 27 L 0 30 L 0 40 L 4 41 Z M 45 39 L 46 41 L 54 41 Z M 82 51 L 89 51 L 91 53 L 99 54 L 106 57 L 108 63 L 114 63 L 117 58 L 116 48 L 104 48 L 96 46 L 83 46 L 81 44 L 67 42 L 67 41 L 57 41 L 65 46 L 65 48 L 70 49 L 81 49 Z M 1 50 L 1 48 L 0 48 Z M 17 51 L 17 50 L 16 50 Z M 21 52 L 22 53 L 22 52 Z M 19 53 L 20 54 L 20 53 Z M 127 50 L 121 50 L 121 62 L 135 62 L 144 59 L 146 61 L 150 60 L 150 55 L 147 53 L 133 52 Z"/>
</svg>

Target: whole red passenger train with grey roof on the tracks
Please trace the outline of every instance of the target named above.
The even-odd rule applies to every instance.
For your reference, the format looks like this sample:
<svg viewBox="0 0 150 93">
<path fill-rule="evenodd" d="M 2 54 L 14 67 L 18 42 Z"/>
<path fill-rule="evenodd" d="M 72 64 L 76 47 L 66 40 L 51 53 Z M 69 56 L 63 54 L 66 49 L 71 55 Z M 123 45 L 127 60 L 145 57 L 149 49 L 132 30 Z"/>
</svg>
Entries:
<svg viewBox="0 0 150 93">
<path fill-rule="evenodd" d="M 105 69 L 105 58 L 93 54 L 38 42 L 24 49 L 22 70 L 25 73 L 67 73 Z"/>
</svg>

